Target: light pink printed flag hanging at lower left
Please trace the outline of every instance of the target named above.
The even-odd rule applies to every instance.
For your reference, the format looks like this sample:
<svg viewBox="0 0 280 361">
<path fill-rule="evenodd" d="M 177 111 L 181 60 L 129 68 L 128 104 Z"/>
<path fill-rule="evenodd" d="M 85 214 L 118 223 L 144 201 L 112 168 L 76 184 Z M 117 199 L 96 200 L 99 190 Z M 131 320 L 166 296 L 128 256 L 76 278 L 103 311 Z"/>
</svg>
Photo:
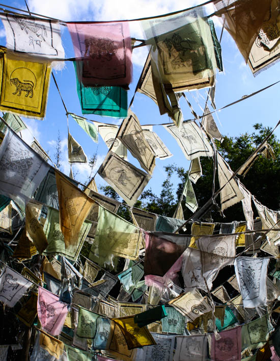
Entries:
<svg viewBox="0 0 280 361">
<path fill-rule="evenodd" d="M 59 296 L 39 287 L 37 312 L 44 330 L 52 336 L 60 334 L 68 313 L 67 303 L 61 302 Z"/>
</svg>

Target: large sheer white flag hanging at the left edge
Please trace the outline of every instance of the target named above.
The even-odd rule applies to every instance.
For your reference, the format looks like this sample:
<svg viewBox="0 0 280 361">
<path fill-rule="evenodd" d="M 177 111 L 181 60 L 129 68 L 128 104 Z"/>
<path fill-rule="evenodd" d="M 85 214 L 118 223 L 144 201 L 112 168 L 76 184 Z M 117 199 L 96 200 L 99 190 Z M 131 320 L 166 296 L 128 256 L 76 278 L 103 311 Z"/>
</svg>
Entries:
<svg viewBox="0 0 280 361">
<path fill-rule="evenodd" d="M 12 131 L 0 147 L 1 193 L 14 199 L 20 207 L 32 198 L 49 169 L 38 154 Z"/>
</svg>

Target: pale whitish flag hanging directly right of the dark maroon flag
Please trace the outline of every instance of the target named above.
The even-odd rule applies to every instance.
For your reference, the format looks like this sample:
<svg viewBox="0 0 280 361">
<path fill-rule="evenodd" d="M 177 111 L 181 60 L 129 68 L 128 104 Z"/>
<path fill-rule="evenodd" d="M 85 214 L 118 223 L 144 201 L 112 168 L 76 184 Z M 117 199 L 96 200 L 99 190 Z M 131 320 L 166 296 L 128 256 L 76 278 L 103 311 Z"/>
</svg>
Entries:
<svg viewBox="0 0 280 361">
<path fill-rule="evenodd" d="M 207 286 L 209 290 L 212 289 L 212 280 L 216 274 L 209 272 L 205 274 Z M 202 276 L 202 263 L 201 263 L 201 252 L 198 249 L 188 247 L 183 253 L 183 265 L 182 275 L 184 278 L 185 291 L 191 291 L 195 288 L 200 288 L 207 291 L 205 280 Z"/>
</svg>

